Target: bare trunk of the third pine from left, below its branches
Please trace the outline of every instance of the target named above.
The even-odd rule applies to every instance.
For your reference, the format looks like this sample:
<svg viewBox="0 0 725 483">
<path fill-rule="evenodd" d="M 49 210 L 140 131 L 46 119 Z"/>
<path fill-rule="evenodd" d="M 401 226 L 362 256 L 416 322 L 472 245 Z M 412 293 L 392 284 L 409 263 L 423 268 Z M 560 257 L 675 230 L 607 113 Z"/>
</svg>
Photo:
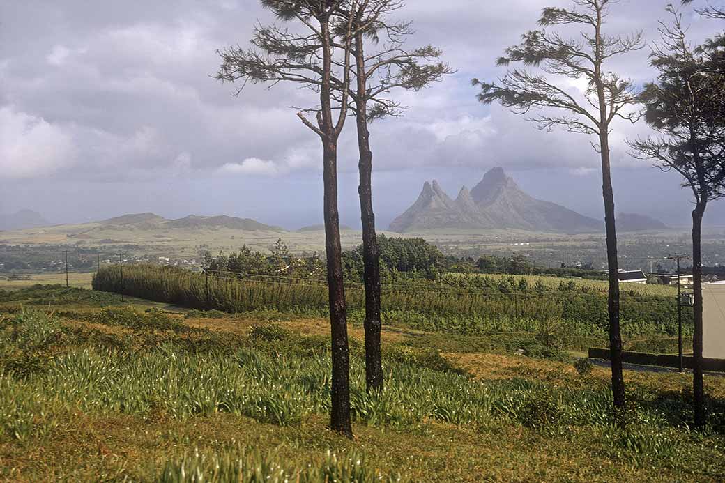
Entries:
<svg viewBox="0 0 725 483">
<path fill-rule="evenodd" d="M 604 216 L 607 231 L 607 265 L 609 269 L 609 294 L 607 299 L 609 313 L 609 350 L 612 361 L 612 392 L 614 406 L 624 408 L 624 375 L 622 373 L 622 336 L 619 324 L 619 260 L 617 257 L 617 228 L 614 207 L 614 189 L 610 166 L 608 133 L 602 130 L 602 194 L 604 196 Z"/>
</svg>

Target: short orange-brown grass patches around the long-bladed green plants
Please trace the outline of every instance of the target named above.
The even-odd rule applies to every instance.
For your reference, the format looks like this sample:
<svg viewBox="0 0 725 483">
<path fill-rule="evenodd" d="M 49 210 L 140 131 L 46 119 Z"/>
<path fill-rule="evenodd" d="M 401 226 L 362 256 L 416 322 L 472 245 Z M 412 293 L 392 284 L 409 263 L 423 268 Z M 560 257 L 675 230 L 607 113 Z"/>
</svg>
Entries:
<svg viewBox="0 0 725 483">
<path fill-rule="evenodd" d="M 108 318 L 94 318 L 92 314 L 99 313 L 104 305 L 118 305 L 115 296 L 97 294 L 83 300 L 78 297 L 62 300 L 57 294 L 54 297 L 57 298 L 54 310 L 63 315 L 64 334 L 75 337 L 74 343 L 78 344 L 67 349 L 70 352 L 101 342 L 123 342 L 131 347 L 178 344 L 184 337 L 192 337 L 189 334 L 202 338 L 219 334 L 220 341 L 236 347 L 250 344 L 249 330 L 266 324 L 250 318 L 170 315 L 170 323 L 207 330 L 198 334 L 187 334 L 181 329 L 159 331 L 151 326 L 124 326 L 109 323 Z M 131 305 L 136 303 L 141 309 L 149 307 L 136 301 Z M 302 339 L 295 339 L 298 342 L 315 337 L 319 342 L 328 334 L 326 321 L 317 319 L 277 321 L 276 324 L 301 334 Z M 88 337 L 86 342 L 82 337 Z M 357 341 L 359 350 L 362 330 L 352 326 L 351 337 Z M 440 337 L 392 328 L 386 329 L 383 336 L 389 354 L 400 344 L 435 343 Z M 281 360 L 291 357 L 284 352 L 286 345 L 282 342 L 260 347 L 260 350 L 282 351 L 278 355 Z M 504 353 L 454 351 L 445 356 L 475 378 L 472 383 L 460 379 L 460 384 L 486 384 L 494 391 L 505 392 L 509 387 L 523 384 L 522 387 L 539 388 L 544 391 L 542 394 L 556 390 L 577 394 L 605 389 L 608 382 L 608 373 L 602 368 L 593 368 L 589 375 L 580 376 L 571 364 Z M 450 377 L 458 380 L 457 376 Z M 687 407 L 680 400 L 687 400 L 688 376 L 626 371 L 626 381 L 635 400 L 642 405 L 661 403 L 662 408 Z M 711 377 L 706 384 L 715 400 L 725 398 L 725 379 Z M 52 389 L 46 390 L 52 392 Z M 541 422 L 546 420 L 547 413 L 544 412 L 542 419 L 537 412 L 539 402 L 547 404 L 546 399 L 534 400 L 534 407 L 528 409 L 533 412 L 525 414 Z M 455 407 L 455 400 L 453 403 Z M 383 473 L 400 472 L 410 481 L 655 482 L 721 481 L 725 477 L 722 450 L 725 439 L 718 432 L 705 437 L 689 434 L 674 421 L 660 421 L 655 425 L 663 427 L 639 421 L 634 426 L 641 432 L 637 429 L 613 436 L 616 432 L 609 426 L 563 422 L 531 427 L 526 424 L 529 420 L 520 416 L 486 416 L 478 422 L 460 424 L 434 417 L 402 426 L 364 424 L 359 420 L 355 424 L 356 439 L 351 442 L 328 432 L 326 417 L 319 411 L 305 414 L 299 424 L 279 426 L 260 422 L 259 418 L 216 411 L 179 418 L 164 408 L 162 402 L 156 409 L 123 413 L 71 405 L 60 414 L 57 426 L 44 436 L 30 436 L 20 441 L 12 437 L 0 439 L 0 476 L 22 481 L 124 477 L 146 480 L 158 476 L 157 468 L 163 461 L 181 458 L 195 450 L 204 455 L 235 458 L 247 447 L 254 447 L 265 454 L 272 452 L 273 458 L 289 466 L 322 461 L 329 450 L 339 454 L 358 450 Z M 637 414 L 649 413 L 644 410 Z"/>
</svg>

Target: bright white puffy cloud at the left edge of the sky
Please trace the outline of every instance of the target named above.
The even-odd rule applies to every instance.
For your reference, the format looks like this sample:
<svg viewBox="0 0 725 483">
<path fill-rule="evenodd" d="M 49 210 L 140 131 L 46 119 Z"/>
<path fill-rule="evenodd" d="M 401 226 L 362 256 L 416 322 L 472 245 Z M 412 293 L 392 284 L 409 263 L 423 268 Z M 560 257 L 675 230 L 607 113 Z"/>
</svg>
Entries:
<svg viewBox="0 0 725 483">
<path fill-rule="evenodd" d="M 46 177 L 75 162 L 71 137 L 58 125 L 0 108 L 0 177 Z"/>
</svg>

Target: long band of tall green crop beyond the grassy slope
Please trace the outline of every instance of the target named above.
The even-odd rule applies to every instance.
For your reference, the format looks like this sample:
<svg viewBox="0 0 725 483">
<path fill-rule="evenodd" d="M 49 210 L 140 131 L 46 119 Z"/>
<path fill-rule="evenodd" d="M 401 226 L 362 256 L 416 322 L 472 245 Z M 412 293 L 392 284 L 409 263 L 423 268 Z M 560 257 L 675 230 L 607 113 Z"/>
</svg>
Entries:
<svg viewBox="0 0 725 483">
<path fill-rule="evenodd" d="M 597 281 L 446 274 L 435 281 L 413 279 L 384 286 L 383 319 L 388 325 L 404 329 L 465 336 L 537 334 L 547 337 L 549 345 L 586 350 L 591 345 L 605 347 L 608 341 L 604 287 Z M 119 292 L 118 268 L 101 269 L 94 278 L 94 288 Z M 178 268 L 131 265 L 124 268 L 123 291 L 201 310 L 327 316 L 326 286 L 299 279 L 207 279 Z M 625 347 L 655 352 L 676 350 L 675 293 L 669 287 L 653 290 L 633 286 L 624 290 Z M 359 285 L 349 285 L 347 304 L 349 320 L 361 322 L 364 293 Z M 684 321 L 685 333 L 691 334 L 691 311 L 684 311 Z"/>
</svg>

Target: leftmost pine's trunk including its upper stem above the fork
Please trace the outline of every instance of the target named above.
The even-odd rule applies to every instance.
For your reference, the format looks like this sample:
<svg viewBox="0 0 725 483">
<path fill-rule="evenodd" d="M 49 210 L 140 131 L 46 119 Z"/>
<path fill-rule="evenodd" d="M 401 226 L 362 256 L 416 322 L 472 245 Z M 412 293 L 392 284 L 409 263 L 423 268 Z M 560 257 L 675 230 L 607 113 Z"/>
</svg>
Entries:
<svg viewBox="0 0 725 483">
<path fill-rule="evenodd" d="M 332 342 L 332 408 L 330 427 L 352 437 L 350 424 L 349 348 L 347 345 L 347 310 L 342 278 L 342 248 L 340 217 L 337 210 L 337 141 L 339 132 L 332 120 L 331 106 L 331 34 L 329 17 L 320 20 L 323 41 L 323 75 L 320 86 L 320 115 L 318 124 L 323 141 L 323 183 L 325 215 L 325 249 L 327 255 L 327 284 L 330 304 Z M 344 113 L 342 114 L 344 115 Z M 344 119 L 344 118 L 343 118 Z"/>
</svg>

